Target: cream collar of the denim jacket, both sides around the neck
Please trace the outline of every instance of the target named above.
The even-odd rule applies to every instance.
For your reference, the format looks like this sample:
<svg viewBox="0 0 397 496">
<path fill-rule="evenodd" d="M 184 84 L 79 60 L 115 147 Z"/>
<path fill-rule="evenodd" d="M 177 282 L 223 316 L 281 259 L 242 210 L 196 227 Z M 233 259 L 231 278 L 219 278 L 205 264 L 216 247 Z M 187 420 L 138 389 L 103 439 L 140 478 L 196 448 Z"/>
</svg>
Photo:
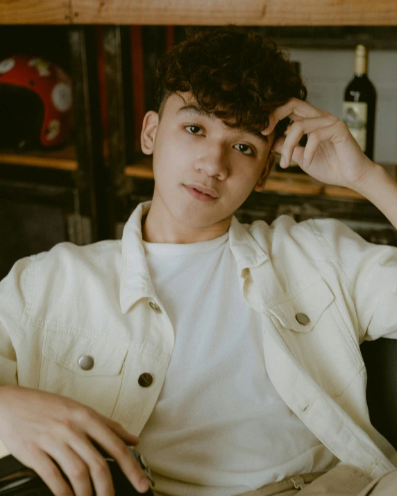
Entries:
<svg viewBox="0 0 397 496">
<path fill-rule="evenodd" d="M 150 207 L 151 201 L 137 205 L 124 226 L 119 293 L 123 314 L 140 299 L 155 297 L 142 244 L 142 218 Z M 255 241 L 246 225 L 240 224 L 235 216 L 230 223 L 229 243 L 240 277 L 246 277 L 246 268 L 257 267 L 269 259 L 269 255 Z"/>
</svg>

